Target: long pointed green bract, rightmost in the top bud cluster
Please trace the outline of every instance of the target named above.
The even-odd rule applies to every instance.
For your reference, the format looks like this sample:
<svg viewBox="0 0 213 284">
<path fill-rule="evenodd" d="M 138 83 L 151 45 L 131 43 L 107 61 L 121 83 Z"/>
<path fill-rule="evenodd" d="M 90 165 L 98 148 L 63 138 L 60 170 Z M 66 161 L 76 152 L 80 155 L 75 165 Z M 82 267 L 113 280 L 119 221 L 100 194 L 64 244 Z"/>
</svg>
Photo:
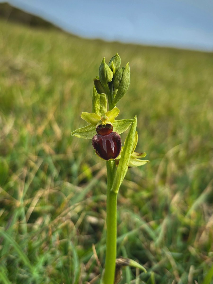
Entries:
<svg viewBox="0 0 213 284">
<path fill-rule="evenodd" d="M 129 62 L 127 62 L 118 91 L 112 101 L 112 105 L 116 106 L 116 104 L 120 101 L 120 99 L 126 94 L 129 85 L 130 85 L 130 65 Z"/>
</svg>

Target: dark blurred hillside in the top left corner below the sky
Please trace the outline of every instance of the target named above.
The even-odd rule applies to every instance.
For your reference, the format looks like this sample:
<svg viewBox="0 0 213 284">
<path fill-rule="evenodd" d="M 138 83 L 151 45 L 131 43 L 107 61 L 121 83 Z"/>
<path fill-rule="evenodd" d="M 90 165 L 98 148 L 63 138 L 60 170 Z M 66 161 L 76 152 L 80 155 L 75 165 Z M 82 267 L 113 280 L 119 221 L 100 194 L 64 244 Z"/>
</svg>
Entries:
<svg viewBox="0 0 213 284">
<path fill-rule="evenodd" d="M 18 8 L 12 7 L 8 3 L 0 3 L 0 18 L 6 18 L 9 21 L 19 22 L 35 27 L 36 26 L 44 28 L 55 27 L 52 23 L 38 16 L 32 15 L 28 12 L 24 12 Z"/>
</svg>

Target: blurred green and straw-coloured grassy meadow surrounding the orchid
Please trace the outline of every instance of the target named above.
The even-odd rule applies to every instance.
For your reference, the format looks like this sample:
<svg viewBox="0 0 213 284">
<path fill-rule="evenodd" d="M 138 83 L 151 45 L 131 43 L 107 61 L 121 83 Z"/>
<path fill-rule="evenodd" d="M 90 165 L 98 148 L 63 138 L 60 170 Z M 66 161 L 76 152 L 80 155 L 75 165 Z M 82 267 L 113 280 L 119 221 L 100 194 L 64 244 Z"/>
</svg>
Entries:
<svg viewBox="0 0 213 284">
<path fill-rule="evenodd" d="M 0 21 L 0 283 L 98 284 L 106 167 L 87 123 L 93 78 L 116 53 L 131 69 L 118 119 L 137 152 L 118 195 L 121 284 L 213 283 L 213 53 L 144 47 Z M 121 135 L 124 141 L 126 133 Z"/>
</svg>

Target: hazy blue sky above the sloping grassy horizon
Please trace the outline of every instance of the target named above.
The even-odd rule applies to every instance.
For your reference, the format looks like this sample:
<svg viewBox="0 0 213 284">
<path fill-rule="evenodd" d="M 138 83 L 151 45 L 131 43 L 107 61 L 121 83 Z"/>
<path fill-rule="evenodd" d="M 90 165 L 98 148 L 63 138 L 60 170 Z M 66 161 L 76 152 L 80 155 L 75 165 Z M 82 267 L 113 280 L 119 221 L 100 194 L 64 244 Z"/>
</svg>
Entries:
<svg viewBox="0 0 213 284">
<path fill-rule="evenodd" d="M 212 0 L 8 2 L 82 37 L 213 51 Z"/>
</svg>

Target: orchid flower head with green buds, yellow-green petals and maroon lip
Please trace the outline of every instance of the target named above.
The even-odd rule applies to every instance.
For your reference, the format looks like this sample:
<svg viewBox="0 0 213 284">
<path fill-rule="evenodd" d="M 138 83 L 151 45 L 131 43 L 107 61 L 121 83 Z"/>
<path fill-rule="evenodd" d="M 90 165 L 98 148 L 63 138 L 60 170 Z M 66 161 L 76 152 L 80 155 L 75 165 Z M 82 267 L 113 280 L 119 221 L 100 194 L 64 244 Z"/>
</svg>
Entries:
<svg viewBox="0 0 213 284">
<path fill-rule="evenodd" d="M 120 134 L 134 122 L 133 119 L 115 120 L 120 110 L 116 104 L 125 95 L 130 84 L 130 66 L 119 70 L 121 59 L 118 53 L 106 64 L 105 58 L 99 67 L 99 76 L 94 78 L 92 112 L 82 112 L 81 117 L 89 125 L 72 131 L 72 135 L 92 139 L 95 153 L 103 160 L 116 160 L 118 164 L 124 147 L 121 147 Z M 108 101 L 108 103 L 107 103 Z M 109 109 L 109 110 L 108 110 Z M 135 119 L 136 120 L 136 119 Z M 134 152 L 137 145 L 137 131 L 133 133 L 133 145 L 129 167 L 141 166 L 148 160 L 140 160 L 146 153 Z M 132 136 L 132 135 L 131 135 Z"/>
</svg>

